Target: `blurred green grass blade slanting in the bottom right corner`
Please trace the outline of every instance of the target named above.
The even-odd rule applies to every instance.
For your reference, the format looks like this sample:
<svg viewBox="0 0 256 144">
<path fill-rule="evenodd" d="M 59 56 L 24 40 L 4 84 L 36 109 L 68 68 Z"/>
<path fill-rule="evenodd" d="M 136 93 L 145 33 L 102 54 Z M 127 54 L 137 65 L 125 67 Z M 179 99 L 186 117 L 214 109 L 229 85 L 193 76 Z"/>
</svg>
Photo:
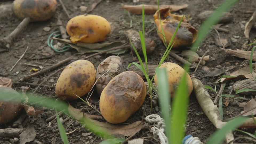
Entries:
<svg viewBox="0 0 256 144">
<path fill-rule="evenodd" d="M 208 140 L 206 144 L 220 144 L 225 138 L 225 135 L 227 133 L 233 130 L 235 130 L 237 127 L 239 127 L 247 118 L 246 117 L 238 117 L 235 119 L 232 119 L 231 121 L 227 122 L 225 126 L 222 127 L 222 129 L 217 130 Z"/>
</svg>

